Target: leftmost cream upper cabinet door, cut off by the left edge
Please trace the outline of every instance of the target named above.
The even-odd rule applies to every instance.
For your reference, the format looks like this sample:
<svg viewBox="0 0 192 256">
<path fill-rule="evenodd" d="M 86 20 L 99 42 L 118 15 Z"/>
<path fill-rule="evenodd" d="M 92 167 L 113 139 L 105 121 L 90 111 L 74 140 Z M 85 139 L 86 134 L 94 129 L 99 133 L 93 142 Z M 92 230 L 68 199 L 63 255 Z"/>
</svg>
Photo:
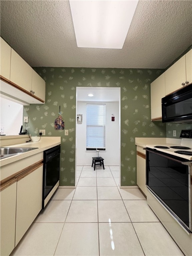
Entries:
<svg viewBox="0 0 192 256">
<path fill-rule="evenodd" d="M 3 78 L 10 80 L 11 47 L 1 38 L 1 71 Z"/>
</svg>

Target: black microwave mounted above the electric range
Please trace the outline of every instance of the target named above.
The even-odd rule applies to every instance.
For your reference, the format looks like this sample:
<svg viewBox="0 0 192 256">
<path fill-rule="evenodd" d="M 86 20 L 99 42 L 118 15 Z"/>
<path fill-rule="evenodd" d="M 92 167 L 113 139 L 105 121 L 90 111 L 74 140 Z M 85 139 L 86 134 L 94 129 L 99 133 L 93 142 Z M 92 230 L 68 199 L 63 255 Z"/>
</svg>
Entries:
<svg viewBox="0 0 192 256">
<path fill-rule="evenodd" d="M 192 123 L 192 83 L 162 98 L 162 122 Z"/>
</svg>

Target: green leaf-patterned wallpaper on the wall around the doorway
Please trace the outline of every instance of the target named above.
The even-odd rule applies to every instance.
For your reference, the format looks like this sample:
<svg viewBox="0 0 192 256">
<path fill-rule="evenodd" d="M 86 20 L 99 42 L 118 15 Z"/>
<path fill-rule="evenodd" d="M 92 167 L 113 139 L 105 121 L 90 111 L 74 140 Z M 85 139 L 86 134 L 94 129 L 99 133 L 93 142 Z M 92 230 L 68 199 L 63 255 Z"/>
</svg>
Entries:
<svg viewBox="0 0 192 256">
<path fill-rule="evenodd" d="M 135 137 L 166 137 L 166 124 L 151 122 L 150 84 L 164 70 L 40 67 L 35 71 L 46 81 L 45 104 L 24 107 L 32 136 L 39 129 L 46 136 L 61 136 L 60 185 L 75 185 L 76 87 L 121 88 L 121 186 L 136 185 Z M 59 105 L 65 120 L 63 131 L 54 130 Z"/>
</svg>

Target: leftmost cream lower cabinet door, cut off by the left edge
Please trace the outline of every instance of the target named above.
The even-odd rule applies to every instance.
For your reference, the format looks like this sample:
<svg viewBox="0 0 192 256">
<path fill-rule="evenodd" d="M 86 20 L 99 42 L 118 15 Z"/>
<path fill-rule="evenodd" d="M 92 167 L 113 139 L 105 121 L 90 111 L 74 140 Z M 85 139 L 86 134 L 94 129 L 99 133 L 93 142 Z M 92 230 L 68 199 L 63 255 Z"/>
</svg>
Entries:
<svg viewBox="0 0 192 256">
<path fill-rule="evenodd" d="M 11 183 L 10 183 L 11 184 Z M 1 253 L 9 255 L 15 247 L 16 180 L 1 192 Z"/>
</svg>

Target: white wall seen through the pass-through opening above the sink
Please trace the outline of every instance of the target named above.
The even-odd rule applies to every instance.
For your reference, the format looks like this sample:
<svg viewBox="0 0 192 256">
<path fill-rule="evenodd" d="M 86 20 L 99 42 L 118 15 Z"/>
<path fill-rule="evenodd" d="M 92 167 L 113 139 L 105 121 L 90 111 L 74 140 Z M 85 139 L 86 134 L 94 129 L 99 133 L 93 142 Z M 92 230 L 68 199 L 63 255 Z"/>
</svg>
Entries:
<svg viewBox="0 0 192 256">
<path fill-rule="evenodd" d="M 0 98 L 0 126 L 6 135 L 18 135 L 23 124 L 23 105 Z"/>
</svg>

